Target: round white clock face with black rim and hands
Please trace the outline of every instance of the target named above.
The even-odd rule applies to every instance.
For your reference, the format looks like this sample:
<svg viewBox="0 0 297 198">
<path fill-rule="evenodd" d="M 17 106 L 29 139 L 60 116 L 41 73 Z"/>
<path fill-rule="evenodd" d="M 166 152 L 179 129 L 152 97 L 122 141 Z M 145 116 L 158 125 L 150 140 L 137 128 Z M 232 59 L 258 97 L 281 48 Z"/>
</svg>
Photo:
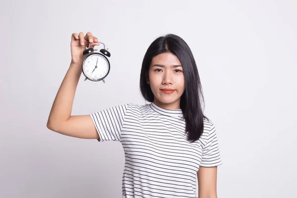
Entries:
<svg viewBox="0 0 297 198">
<path fill-rule="evenodd" d="M 103 55 L 93 53 L 85 59 L 83 71 L 90 80 L 97 81 L 108 74 L 109 63 Z"/>
</svg>

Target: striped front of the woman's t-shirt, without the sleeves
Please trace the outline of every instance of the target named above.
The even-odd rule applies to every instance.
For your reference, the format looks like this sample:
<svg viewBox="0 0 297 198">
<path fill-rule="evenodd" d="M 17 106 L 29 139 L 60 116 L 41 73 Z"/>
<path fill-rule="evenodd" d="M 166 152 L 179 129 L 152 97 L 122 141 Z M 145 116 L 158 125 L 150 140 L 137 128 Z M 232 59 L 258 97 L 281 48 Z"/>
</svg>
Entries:
<svg viewBox="0 0 297 198">
<path fill-rule="evenodd" d="M 197 198 L 202 148 L 198 141 L 187 141 L 181 111 L 130 104 L 120 142 L 125 153 L 123 197 Z"/>
</svg>

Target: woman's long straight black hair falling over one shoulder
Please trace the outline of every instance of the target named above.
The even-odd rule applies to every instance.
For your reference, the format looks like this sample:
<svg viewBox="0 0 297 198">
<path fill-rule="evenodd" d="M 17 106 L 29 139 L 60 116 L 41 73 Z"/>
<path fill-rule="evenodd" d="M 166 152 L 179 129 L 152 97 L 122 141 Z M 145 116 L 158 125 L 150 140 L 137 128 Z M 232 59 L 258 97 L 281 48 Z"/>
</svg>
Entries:
<svg viewBox="0 0 297 198">
<path fill-rule="evenodd" d="M 171 52 L 176 55 L 182 64 L 185 92 L 181 96 L 180 108 L 186 122 L 188 141 L 198 141 L 203 132 L 203 118 L 207 120 L 208 118 L 203 114 L 201 108 L 200 99 L 204 103 L 204 98 L 196 61 L 190 47 L 181 37 L 174 34 L 167 34 L 158 37 L 150 44 L 142 63 L 140 91 L 147 101 L 153 102 L 154 96 L 147 83 L 149 65 L 154 56 L 165 52 Z"/>
</svg>

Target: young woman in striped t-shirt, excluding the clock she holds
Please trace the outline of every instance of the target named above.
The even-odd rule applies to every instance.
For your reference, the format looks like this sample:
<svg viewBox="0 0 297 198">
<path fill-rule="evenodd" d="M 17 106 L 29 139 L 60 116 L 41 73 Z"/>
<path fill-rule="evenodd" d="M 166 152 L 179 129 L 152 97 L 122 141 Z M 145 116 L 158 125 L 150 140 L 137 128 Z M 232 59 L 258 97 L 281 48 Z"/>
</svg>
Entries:
<svg viewBox="0 0 297 198">
<path fill-rule="evenodd" d="M 149 104 L 71 115 L 82 52 L 89 44 L 99 45 L 92 33 L 72 34 L 71 64 L 47 127 L 76 138 L 120 141 L 125 153 L 123 198 L 216 198 L 222 162 L 215 126 L 202 112 L 197 65 L 186 42 L 169 34 L 149 46 L 140 74 L 141 93 Z"/>
</svg>

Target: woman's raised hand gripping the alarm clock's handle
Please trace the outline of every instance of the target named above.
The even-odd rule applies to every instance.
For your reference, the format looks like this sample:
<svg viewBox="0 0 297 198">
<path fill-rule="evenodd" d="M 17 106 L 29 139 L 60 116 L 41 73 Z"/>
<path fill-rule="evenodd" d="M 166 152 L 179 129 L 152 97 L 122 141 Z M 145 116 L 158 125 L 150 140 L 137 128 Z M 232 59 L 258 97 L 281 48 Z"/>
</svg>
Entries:
<svg viewBox="0 0 297 198">
<path fill-rule="evenodd" d="M 71 63 L 81 65 L 84 60 L 83 51 L 86 47 L 99 46 L 97 37 L 94 37 L 91 32 L 88 32 L 86 36 L 84 33 L 73 33 L 71 36 Z"/>
</svg>

